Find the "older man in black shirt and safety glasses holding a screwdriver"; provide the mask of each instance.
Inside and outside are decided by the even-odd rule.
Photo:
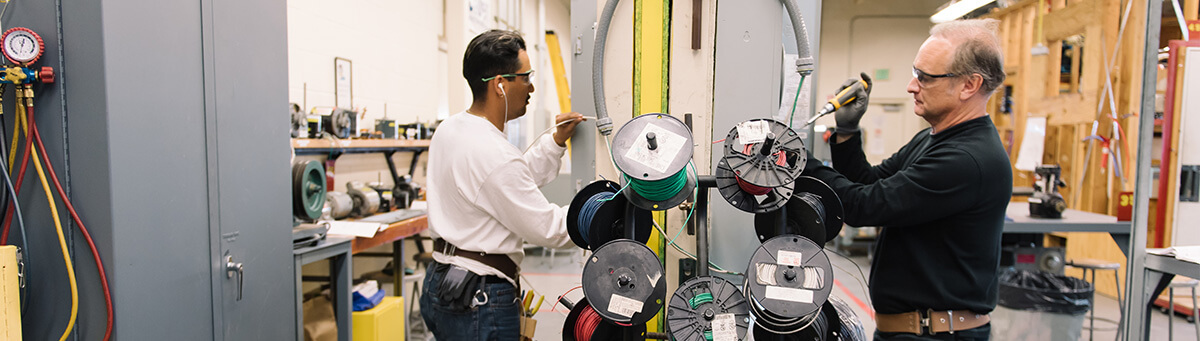
[[[1004,80],[996,24],[958,20],[930,30],[907,88],[930,127],[900,151],[866,162],[858,131],[869,95],[863,90],[835,114],[836,170],[809,162],[804,173],[841,197],[846,223],[882,227],[870,279],[876,340],[989,337],[1013,183],[986,113],[988,97]]]

